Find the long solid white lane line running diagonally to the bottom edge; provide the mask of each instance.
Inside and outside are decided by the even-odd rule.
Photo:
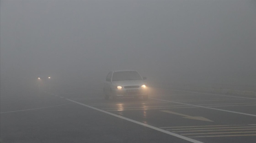
[[[181,139],[184,139],[184,140],[187,140],[187,141],[190,141],[190,142],[193,142],[193,143],[203,143],[201,141],[197,141],[197,140],[194,140],[194,139],[191,139],[191,138],[188,138],[188,137],[185,137],[185,136],[182,136],[182,135],[179,135],[179,134],[175,134],[175,133],[172,133],[170,131],[166,131],[166,130],[163,130],[163,129],[160,129],[158,127],[154,127],[154,126],[151,126],[151,125],[148,125],[148,124],[144,124],[144,123],[141,123],[141,122],[138,122],[136,120],[132,120],[132,119],[129,119],[129,118],[126,118],[126,117],[123,117],[123,116],[120,116],[120,115],[117,115],[117,114],[114,114],[114,113],[110,113],[110,112],[107,112],[105,110],[101,110],[101,109],[98,109],[98,108],[95,108],[93,106],[89,106],[89,105],[86,105],[86,104],[83,104],[83,103],[80,103],[80,102],[77,102],[77,101],[74,101],[74,100],[71,100],[71,99],[67,99],[73,103],[76,103],[76,104],[80,104],[82,106],[86,106],[88,108],[91,108],[91,109],[94,109],[94,110],[97,110],[97,111],[100,111],[100,112],[103,112],[103,113],[106,113],[106,114],[109,114],[109,115],[112,115],[114,117],[118,117],[120,119],[123,119],[123,120],[127,120],[127,121],[130,121],[130,122],[133,122],[135,124],[139,124],[139,125],[142,125],[144,127],[148,127],[148,128],[151,128],[151,129],[154,129],[156,131],[160,131],[160,132],[163,132],[165,134],[169,134],[169,135],[172,135],[172,136],[175,136],[177,138],[181,138]]]

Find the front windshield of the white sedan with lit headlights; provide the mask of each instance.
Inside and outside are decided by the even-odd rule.
[[[136,71],[114,72],[112,81],[120,80],[142,80],[142,78]]]

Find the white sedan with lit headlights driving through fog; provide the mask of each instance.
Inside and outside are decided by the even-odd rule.
[[[122,70],[109,72],[104,83],[103,92],[105,99],[117,97],[142,96],[148,99],[148,88],[145,83],[146,77],[141,77],[135,70]]]

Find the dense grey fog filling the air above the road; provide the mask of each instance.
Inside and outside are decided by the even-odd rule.
[[[59,85],[96,84],[119,69],[155,83],[255,89],[256,1],[1,1],[0,8],[1,92],[33,89],[48,76]]]

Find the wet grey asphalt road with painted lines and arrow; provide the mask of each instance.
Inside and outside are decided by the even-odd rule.
[[[1,92],[1,143],[256,141],[256,97],[150,91],[147,101],[90,87]]]

